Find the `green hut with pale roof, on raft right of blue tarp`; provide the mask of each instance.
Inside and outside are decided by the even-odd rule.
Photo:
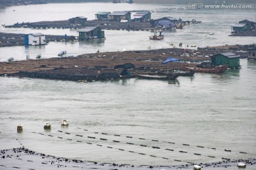
[[[210,57],[211,63],[214,66],[226,65],[228,68],[240,67],[240,55],[233,52],[225,52]]]

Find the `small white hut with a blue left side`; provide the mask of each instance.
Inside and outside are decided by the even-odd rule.
[[[33,33],[25,35],[25,45],[46,45],[46,36],[42,33]]]

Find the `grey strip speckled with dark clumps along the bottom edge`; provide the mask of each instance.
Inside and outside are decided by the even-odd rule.
[[[17,159],[18,157],[18,159]],[[200,163],[203,169],[225,169],[237,168],[238,163],[245,163],[246,169],[255,169],[256,159],[223,159],[220,162]],[[89,162],[78,159],[68,159],[65,157],[55,157],[39,152],[32,151],[26,147],[0,150],[0,166],[4,169],[193,169],[195,164],[180,165],[132,165],[115,164],[104,162]]]

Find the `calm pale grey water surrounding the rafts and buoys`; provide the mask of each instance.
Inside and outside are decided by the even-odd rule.
[[[10,25],[75,16],[94,19],[97,11],[106,11],[106,8],[117,11],[165,7],[111,3],[12,6],[0,10],[0,22]],[[36,58],[38,53],[43,58],[57,57],[60,50],[80,55],[97,50],[146,50],[149,45],[157,49],[170,47],[173,42],[199,47],[255,42],[255,38],[250,37],[228,37],[232,23],[255,20],[252,10],[152,13],[152,18],[164,16],[195,18],[203,23],[164,32],[164,40],[157,42],[149,41],[151,33],[146,31],[105,30],[107,39],[103,43],[50,42],[45,47],[3,47],[1,62],[9,57],[26,60],[26,54],[31,58]],[[78,35],[76,30],[62,29],[1,27],[0,31]],[[202,37],[208,33],[215,35]],[[241,69],[230,69],[225,74],[195,74],[170,82],[124,79],[80,83],[0,77],[0,149],[24,145],[57,157],[137,165],[217,162],[223,157],[255,158],[256,62],[240,60],[240,64]],[[68,128],[60,126],[63,119],[68,119]],[[47,122],[52,125],[50,131],[43,130]],[[19,124],[23,125],[23,133],[16,132]]]

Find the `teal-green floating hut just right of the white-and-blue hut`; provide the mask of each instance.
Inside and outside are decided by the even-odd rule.
[[[87,26],[78,30],[79,40],[94,40],[105,38],[105,32],[99,27]]]

